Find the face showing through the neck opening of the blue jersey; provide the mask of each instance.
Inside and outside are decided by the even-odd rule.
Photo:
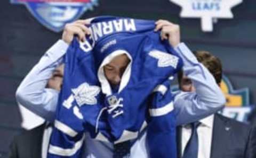
[[[122,75],[129,63],[130,59],[127,55],[121,54],[103,67],[104,74],[111,86],[118,86],[120,84]]]

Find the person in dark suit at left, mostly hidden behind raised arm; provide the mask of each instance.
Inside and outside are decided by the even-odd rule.
[[[63,79],[63,67],[64,65],[61,64],[54,69],[52,76],[46,83],[46,91],[60,91]],[[37,117],[35,119],[38,119]],[[29,122],[33,121],[29,120]],[[36,123],[38,124],[38,120],[36,120]],[[40,120],[39,123],[39,126],[30,130],[24,130],[21,134],[14,136],[10,146],[9,158],[46,157],[52,125],[49,121],[44,121],[41,124]],[[35,124],[33,123],[33,125]]]

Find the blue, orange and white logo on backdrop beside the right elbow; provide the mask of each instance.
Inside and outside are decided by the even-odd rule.
[[[220,87],[227,100],[226,107],[220,113],[238,121],[246,121],[252,111],[249,102],[249,89],[234,90],[226,76],[222,77]]]

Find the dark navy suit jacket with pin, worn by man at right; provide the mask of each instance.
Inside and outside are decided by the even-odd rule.
[[[210,158],[256,158],[256,130],[219,114],[214,115]],[[177,129],[181,157],[181,127]]]

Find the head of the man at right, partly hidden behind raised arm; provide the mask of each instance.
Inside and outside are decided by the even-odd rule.
[[[198,62],[202,63],[209,72],[215,78],[215,81],[218,85],[220,85],[222,79],[222,65],[220,59],[218,57],[213,56],[208,51],[193,51]],[[191,80],[183,74],[182,71],[178,73],[178,82],[179,88],[185,92],[193,92],[195,91],[195,87]]]

